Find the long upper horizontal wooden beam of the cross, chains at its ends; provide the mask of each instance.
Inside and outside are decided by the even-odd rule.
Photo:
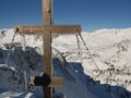
[[[60,33],[60,34],[66,34],[66,33],[72,33],[72,34],[79,34],[81,33],[81,26],[80,25],[51,25],[51,26],[36,26],[36,25],[31,25],[31,26],[15,26],[14,27],[15,33],[23,33],[23,34],[33,34],[33,33]]]

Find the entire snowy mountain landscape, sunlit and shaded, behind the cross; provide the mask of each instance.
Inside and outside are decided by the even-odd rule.
[[[0,98],[43,98],[41,88],[31,87],[29,76],[43,72],[41,37],[0,30]],[[55,36],[53,75],[66,83],[55,88],[53,98],[131,98],[131,28]],[[79,50],[81,52],[79,52]],[[37,58],[36,58],[37,57]],[[95,81],[94,81],[95,79]],[[27,81],[27,82],[26,82]]]

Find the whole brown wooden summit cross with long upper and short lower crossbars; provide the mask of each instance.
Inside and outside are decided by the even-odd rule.
[[[52,0],[43,0],[43,16],[44,25],[43,26],[15,26],[15,33],[43,33],[43,46],[44,46],[44,73],[50,76],[51,83],[44,88],[44,98],[52,98],[51,87],[63,85],[63,79],[60,77],[52,77],[52,66],[51,66],[51,34],[80,34],[80,25],[52,25],[51,21],[51,1]],[[33,77],[35,78],[35,77]]]

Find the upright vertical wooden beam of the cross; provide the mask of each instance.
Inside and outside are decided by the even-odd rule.
[[[43,0],[43,16],[45,25],[51,26],[51,0]],[[44,73],[51,77],[51,33],[43,33]],[[51,87],[43,87],[44,98],[51,98]]]

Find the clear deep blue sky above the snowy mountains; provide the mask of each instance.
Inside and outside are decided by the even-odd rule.
[[[131,27],[131,0],[53,0],[53,24],[83,30]],[[0,28],[43,25],[41,0],[0,0]]]

